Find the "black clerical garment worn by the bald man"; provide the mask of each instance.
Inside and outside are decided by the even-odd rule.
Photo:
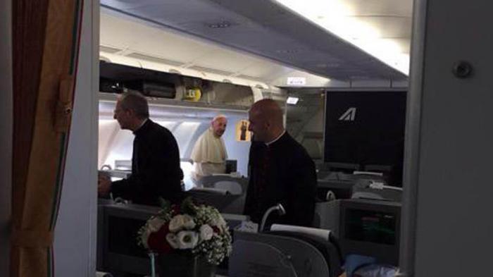
[[[311,226],[317,178],[315,164],[301,144],[288,133],[269,146],[252,142],[249,170],[244,214],[260,223],[269,207],[281,203],[286,215],[272,214],[268,223]]]

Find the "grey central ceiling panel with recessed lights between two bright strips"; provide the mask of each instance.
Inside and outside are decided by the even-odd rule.
[[[366,78],[371,79],[406,79],[404,74],[287,8],[275,4],[274,1],[101,0],[101,4],[146,20],[150,25],[160,25],[201,39],[210,39],[227,47],[263,56],[328,78],[351,80],[355,75],[365,75]],[[376,11],[377,7],[374,10]],[[229,26],[211,27],[223,23]],[[146,51],[153,49],[158,51],[159,45],[163,42],[165,41],[156,43],[152,49]],[[166,52],[168,51],[161,47],[158,56],[168,58]],[[195,57],[198,59],[196,65],[214,66],[208,59],[209,55],[206,54],[207,61]],[[201,55],[196,54],[196,56]],[[368,59],[373,62],[361,63]],[[216,66],[217,63],[216,61]],[[330,64],[337,66],[327,66]],[[232,72],[241,70],[238,66],[219,68],[223,66],[225,64],[217,66],[216,69]],[[248,67],[248,65],[244,66],[244,68]],[[344,70],[341,70],[342,68]]]

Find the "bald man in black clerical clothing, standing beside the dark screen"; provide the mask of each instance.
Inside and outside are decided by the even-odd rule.
[[[282,110],[272,99],[257,101],[249,111],[249,187],[244,214],[260,223],[269,207],[281,203],[285,216],[268,221],[311,226],[316,199],[316,171],[304,147],[282,124]]]

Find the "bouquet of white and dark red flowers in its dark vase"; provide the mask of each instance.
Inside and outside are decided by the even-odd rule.
[[[231,235],[219,211],[195,204],[161,204],[162,209],[139,230],[138,242],[158,254],[162,276],[213,276],[216,265],[228,257]]]

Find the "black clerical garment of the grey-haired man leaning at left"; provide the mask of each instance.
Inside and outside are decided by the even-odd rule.
[[[180,150],[170,130],[150,119],[134,133],[132,174],[111,185],[113,197],[158,205],[158,197],[180,201],[183,178]]]

